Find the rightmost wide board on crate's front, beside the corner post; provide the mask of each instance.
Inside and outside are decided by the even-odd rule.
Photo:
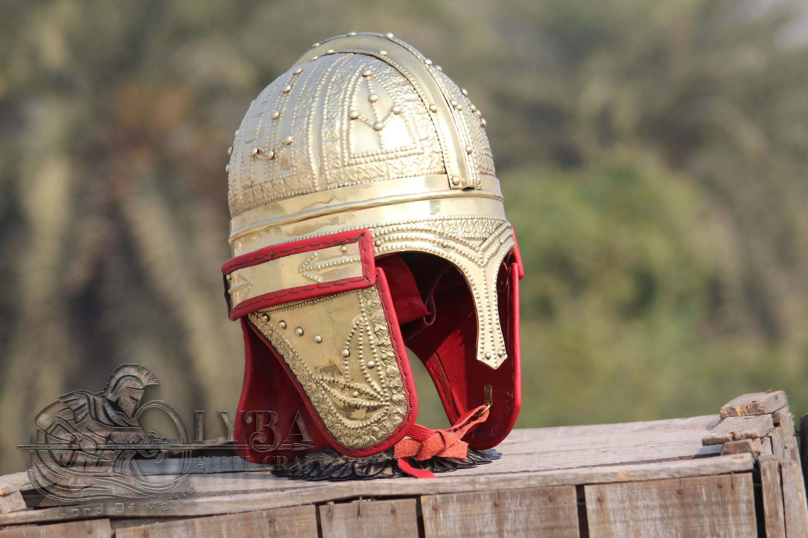
[[[751,473],[585,486],[589,536],[755,538]]]

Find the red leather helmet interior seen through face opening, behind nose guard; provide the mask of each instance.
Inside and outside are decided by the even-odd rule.
[[[398,260],[393,261],[393,256]],[[449,421],[454,423],[482,405],[486,385],[491,385],[493,406],[489,419],[473,428],[465,440],[473,448],[499,444],[511,431],[520,409],[519,288],[514,255],[505,257],[495,284],[508,356],[498,369],[490,369],[477,359],[477,310],[461,270],[440,256],[424,252],[402,252],[377,260],[385,270],[393,264],[393,278],[406,277],[410,300],[417,290],[423,311],[427,312],[401,324],[404,343],[427,368]],[[404,286],[398,287],[401,297]],[[393,302],[398,313],[395,292]]]

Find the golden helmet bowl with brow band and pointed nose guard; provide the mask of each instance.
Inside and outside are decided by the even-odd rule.
[[[468,92],[394,36],[351,32],[315,44],[263,90],[236,131],[234,256],[360,228],[371,231],[376,256],[441,256],[465,274],[478,360],[497,368],[507,354],[496,278],[514,243],[484,127]],[[300,282],[298,267],[278,269],[261,289]],[[294,273],[288,281],[285,271]],[[242,277],[255,280],[232,276],[238,299],[259,294]],[[313,330],[325,345],[325,329]],[[312,352],[301,361],[319,361],[322,347]]]

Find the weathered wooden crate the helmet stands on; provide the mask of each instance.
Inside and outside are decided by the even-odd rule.
[[[808,536],[785,394],[747,394],[722,415],[516,430],[499,450],[434,480],[190,475],[187,498],[80,507],[24,507],[35,497],[17,473],[0,478],[0,538]]]

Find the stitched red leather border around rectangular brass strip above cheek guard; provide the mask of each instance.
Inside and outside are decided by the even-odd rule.
[[[335,247],[340,244],[359,243],[360,257],[362,258],[362,276],[343,278],[334,282],[322,282],[309,284],[307,286],[297,286],[288,290],[273,291],[258,297],[249,298],[238,303],[235,308],[230,307],[230,295],[227,293],[228,282],[225,278],[227,273],[236,269],[259,265],[265,261],[276,260],[284,256],[290,256],[299,252],[309,252],[319,248]],[[288,243],[273,244],[255,252],[247,252],[241,256],[236,256],[232,260],[221,266],[222,282],[225,285],[225,300],[229,310],[228,317],[232,321],[255,312],[262,308],[275,307],[284,302],[306,301],[322,297],[323,295],[338,294],[343,291],[358,290],[368,288],[376,284],[376,262],[373,258],[373,243],[370,231],[351,230],[340,231],[328,236],[309,237],[290,241]]]

